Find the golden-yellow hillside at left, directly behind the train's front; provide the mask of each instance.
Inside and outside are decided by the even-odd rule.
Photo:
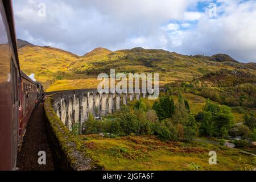
[[[79,56],[52,47],[32,44],[19,44],[19,61],[22,71],[27,75],[35,73],[36,80],[46,82],[65,75],[70,65]]]

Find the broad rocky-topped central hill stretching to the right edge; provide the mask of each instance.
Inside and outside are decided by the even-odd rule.
[[[97,49],[81,57],[69,71],[97,76],[110,69],[126,73],[159,73],[162,81],[192,80],[218,69],[249,69],[228,55],[184,56],[158,49],[133,48],[110,52]],[[255,70],[250,69],[251,72]]]

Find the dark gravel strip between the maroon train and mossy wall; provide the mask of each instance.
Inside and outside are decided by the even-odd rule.
[[[51,171],[54,170],[51,151],[48,146],[44,127],[43,104],[33,111],[27,125],[23,146],[18,154],[17,167],[22,171]],[[38,152],[46,152],[46,165],[38,164]]]

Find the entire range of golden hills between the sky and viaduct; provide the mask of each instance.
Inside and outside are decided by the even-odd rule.
[[[238,63],[224,54],[185,56],[163,49],[133,48],[110,51],[96,48],[84,56],[52,47],[19,41],[22,70],[43,82],[48,91],[97,88],[97,76],[110,69],[123,73],[159,73],[160,85],[172,81],[192,81],[221,69],[240,70],[256,75],[254,63]],[[74,84],[76,83],[76,84]]]

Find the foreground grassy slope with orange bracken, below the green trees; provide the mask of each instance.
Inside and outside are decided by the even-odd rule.
[[[106,170],[250,170],[253,156],[237,149],[206,143],[161,142],[152,136],[103,138],[82,136]],[[210,165],[209,151],[217,152],[217,165]]]

